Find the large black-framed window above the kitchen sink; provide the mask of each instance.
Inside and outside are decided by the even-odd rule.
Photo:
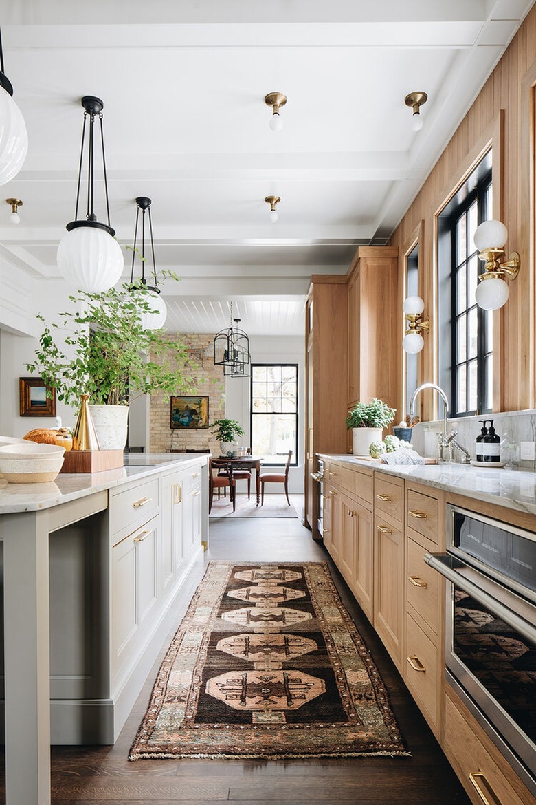
[[[453,417],[493,407],[493,319],[475,300],[484,264],[473,241],[492,208],[489,151],[439,217],[440,385]]]

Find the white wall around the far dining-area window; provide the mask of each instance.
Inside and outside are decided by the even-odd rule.
[[[288,474],[288,489],[294,494],[304,491],[305,456],[305,336],[250,336],[249,350],[253,363],[297,363],[298,365],[298,465]],[[227,378],[225,415],[236,419],[245,436],[239,444],[250,444],[250,378]],[[267,485],[266,491],[281,493],[283,486]]]

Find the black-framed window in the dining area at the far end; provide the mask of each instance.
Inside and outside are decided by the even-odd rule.
[[[298,366],[252,364],[252,454],[265,464],[285,464],[293,451],[297,466]]]

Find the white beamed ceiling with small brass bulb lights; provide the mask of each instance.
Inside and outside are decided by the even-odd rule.
[[[386,242],[532,5],[0,0],[30,140],[3,188],[24,204],[17,227],[0,208],[0,258],[59,276],[80,97],[96,95],[117,237],[132,244],[134,199],[150,196],[158,267],[182,278],[164,288],[166,326],[215,332],[232,301],[248,333],[301,334],[310,276],[345,273],[359,244]],[[419,132],[404,104],[415,90],[428,93]],[[288,97],[279,132],[271,91]]]

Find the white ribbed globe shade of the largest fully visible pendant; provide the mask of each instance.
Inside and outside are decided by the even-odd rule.
[[[105,229],[92,226],[77,226],[63,235],[57,260],[68,283],[91,294],[113,287],[125,266],[117,241]]]

